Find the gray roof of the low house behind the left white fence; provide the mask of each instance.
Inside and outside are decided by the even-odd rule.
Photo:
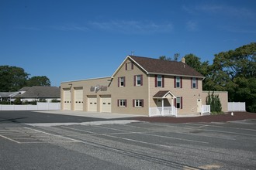
[[[23,88],[21,90],[24,90]],[[19,91],[21,91],[19,90]],[[25,90],[24,90],[25,91]],[[61,90],[59,87],[29,87],[25,93],[16,97],[22,98],[61,98]]]

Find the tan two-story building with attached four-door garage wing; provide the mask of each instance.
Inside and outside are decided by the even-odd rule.
[[[149,115],[154,108],[201,112],[204,76],[182,62],[126,56],[109,77],[61,83],[61,109]],[[227,111],[227,92],[220,95]],[[171,107],[175,106],[175,107]]]

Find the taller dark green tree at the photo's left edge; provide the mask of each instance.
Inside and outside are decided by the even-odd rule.
[[[0,66],[0,91],[17,91],[26,85],[29,74],[16,66]]]

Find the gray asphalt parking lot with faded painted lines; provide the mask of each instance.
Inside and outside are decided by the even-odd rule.
[[[46,122],[38,120],[47,114],[12,114],[0,112],[0,169],[256,167],[254,120],[163,124],[48,115],[54,118]]]

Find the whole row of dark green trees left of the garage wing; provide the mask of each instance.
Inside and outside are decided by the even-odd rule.
[[[0,66],[0,92],[13,92],[22,87],[50,86],[47,76],[32,76],[17,66]]]

